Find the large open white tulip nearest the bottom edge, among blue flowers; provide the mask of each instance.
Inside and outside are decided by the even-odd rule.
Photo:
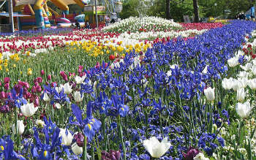
[[[159,158],[168,151],[170,142],[167,142],[167,137],[162,142],[159,142],[156,137],[151,137],[149,140],[143,141],[143,146],[153,158]]]

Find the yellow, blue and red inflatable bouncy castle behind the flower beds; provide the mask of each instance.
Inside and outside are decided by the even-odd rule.
[[[71,24],[74,23],[75,14],[69,14],[69,7],[67,5],[78,4],[83,8],[85,4],[82,0],[50,0],[56,7],[62,10],[62,15],[59,15],[48,7],[47,1],[48,0],[15,0],[14,12],[30,15],[29,17],[20,18],[19,28],[45,28],[54,25],[60,27],[71,26]]]

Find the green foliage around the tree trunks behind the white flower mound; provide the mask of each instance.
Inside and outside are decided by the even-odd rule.
[[[165,18],[166,1],[153,0],[154,5],[148,9],[147,15]],[[129,18],[138,15],[135,7],[138,7],[138,0],[124,1],[121,18]],[[239,12],[246,12],[252,7],[251,0],[198,0],[200,18],[210,16],[218,18],[235,18]],[[225,10],[230,10],[230,14],[225,14]],[[178,22],[183,22],[183,15],[194,16],[192,0],[170,0],[170,18]]]

